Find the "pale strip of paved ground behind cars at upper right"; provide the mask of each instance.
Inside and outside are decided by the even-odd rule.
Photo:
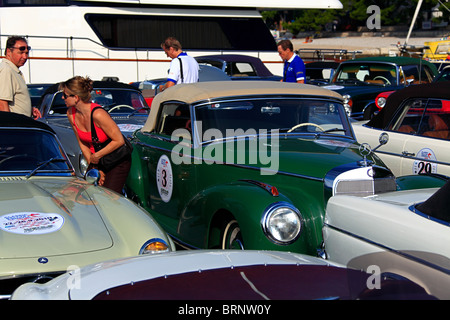
[[[425,41],[436,41],[440,38],[410,37],[408,45],[423,46]],[[389,51],[397,50],[397,43],[404,44],[406,38],[396,37],[335,37],[318,38],[305,43],[305,39],[293,39],[294,49],[345,49],[348,51],[362,51],[363,54],[387,55]]]

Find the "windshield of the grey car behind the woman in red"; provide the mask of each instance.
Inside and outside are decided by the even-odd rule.
[[[150,108],[140,92],[128,89],[94,89],[91,92],[91,101],[101,105],[111,114],[144,114],[147,115]],[[62,92],[58,92],[52,102],[49,115],[66,116],[67,107],[62,98]]]

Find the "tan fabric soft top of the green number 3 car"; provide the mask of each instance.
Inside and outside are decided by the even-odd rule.
[[[142,131],[153,131],[159,107],[166,101],[180,101],[191,104],[220,97],[278,94],[313,95],[342,99],[340,94],[318,86],[277,81],[210,81],[178,84],[155,96],[150,115]]]

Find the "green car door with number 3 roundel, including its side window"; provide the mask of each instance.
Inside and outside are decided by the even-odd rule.
[[[147,179],[151,180],[150,206],[162,226],[175,235],[178,221],[197,189],[195,166],[189,157],[190,113],[187,105],[177,103],[166,103],[161,108],[152,142],[143,156],[150,173]]]

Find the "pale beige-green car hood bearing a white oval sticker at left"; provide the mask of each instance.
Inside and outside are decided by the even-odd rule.
[[[109,248],[112,238],[81,180],[1,182],[0,259]]]

